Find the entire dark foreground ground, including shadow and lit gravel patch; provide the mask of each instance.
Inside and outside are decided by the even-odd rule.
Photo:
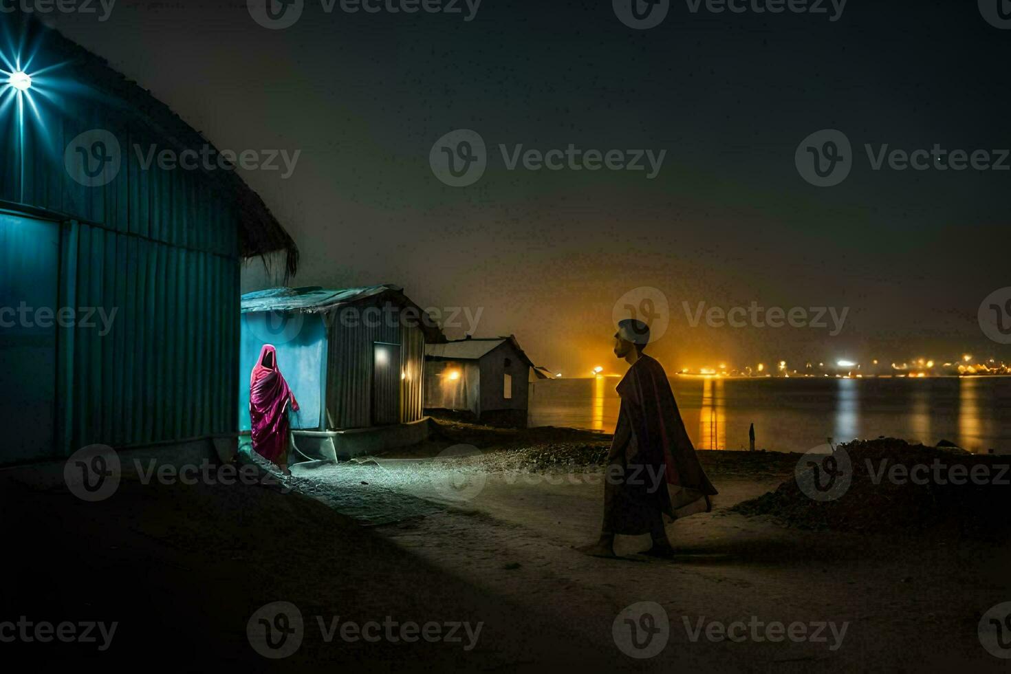
[[[143,484],[127,470],[112,497],[86,503],[60,466],[49,478],[0,471],[0,623],[118,623],[104,652],[99,637],[0,642],[0,655],[159,671],[1006,671],[977,631],[1011,600],[1007,545],[946,529],[800,529],[732,509],[792,479],[797,455],[700,453],[721,494],[714,512],[669,527],[674,560],[636,555],[646,542],[633,538],[619,540],[620,560],[577,553],[599,526],[607,440],[443,422],[436,442],[378,463],[296,470],[291,484],[310,496]],[[460,445],[479,452],[448,471],[432,461]],[[278,601],[297,606],[302,641],[271,660],[247,628]],[[622,619],[639,602],[669,622],[664,648],[645,659],[626,655]],[[335,618],[482,627],[469,650],[462,628],[458,642],[328,642]],[[826,627],[825,642],[693,637],[700,624],[749,621],[846,632],[833,639]]]

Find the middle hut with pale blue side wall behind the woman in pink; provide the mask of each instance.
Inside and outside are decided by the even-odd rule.
[[[249,373],[263,345],[271,344],[300,407],[292,429],[301,454],[336,460],[421,442],[429,432],[422,405],[425,345],[443,339],[396,286],[247,293],[240,427],[251,425]]]

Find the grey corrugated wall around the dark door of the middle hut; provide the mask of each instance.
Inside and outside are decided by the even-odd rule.
[[[364,428],[372,425],[373,354],[377,342],[400,345],[400,365],[404,372],[399,388],[388,395],[400,398],[400,420],[422,418],[425,336],[421,328],[391,324],[385,318],[370,319],[370,307],[389,315],[392,305],[361,302],[328,314],[330,326],[327,411],[333,428]],[[417,373],[417,374],[416,374]]]

